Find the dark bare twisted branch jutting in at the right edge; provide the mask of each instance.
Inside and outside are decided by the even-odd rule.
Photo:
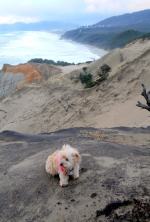
[[[138,101],[136,106],[138,106],[142,109],[146,109],[150,112],[150,91],[148,91],[148,92],[146,91],[144,84],[142,84],[142,88],[143,88],[143,91],[142,91],[141,95],[145,98],[147,105]]]

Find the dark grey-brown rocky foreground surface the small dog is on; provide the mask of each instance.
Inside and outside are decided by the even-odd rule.
[[[150,128],[0,133],[1,222],[149,222]],[[78,147],[80,178],[61,188],[44,170],[62,144]]]

